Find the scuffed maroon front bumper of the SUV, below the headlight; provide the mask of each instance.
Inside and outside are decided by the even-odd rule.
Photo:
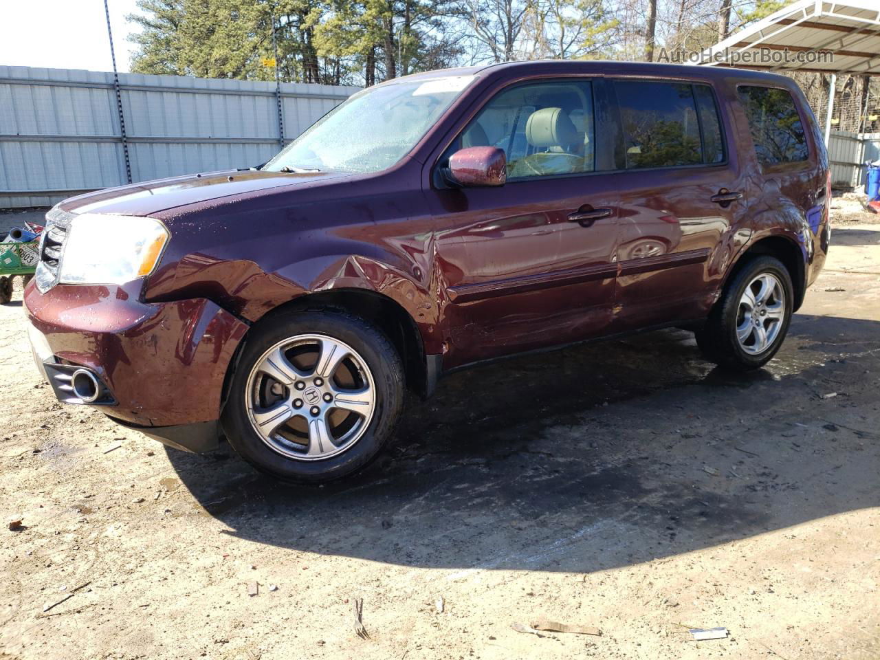
[[[44,377],[59,371],[53,363],[92,370],[108,394],[101,412],[180,449],[209,449],[247,325],[205,298],[143,303],[140,292],[141,282],[131,282],[59,284],[41,294],[30,283],[25,309],[38,333],[31,331],[38,366],[48,362]]]

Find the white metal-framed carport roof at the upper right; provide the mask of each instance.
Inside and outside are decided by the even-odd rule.
[[[702,63],[880,74],[880,0],[796,0],[708,48]]]

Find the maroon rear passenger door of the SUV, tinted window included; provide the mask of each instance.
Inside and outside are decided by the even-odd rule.
[[[624,141],[614,329],[700,318],[747,238],[729,118],[708,83],[621,78],[612,89]]]

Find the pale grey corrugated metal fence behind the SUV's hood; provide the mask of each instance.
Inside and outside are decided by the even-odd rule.
[[[258,165],[280,149],[275,83],[119,75],[133,181]],[[357,87],[282,83],[284,143]],[[0,66],[0,209],[127,182],[112,73]]]

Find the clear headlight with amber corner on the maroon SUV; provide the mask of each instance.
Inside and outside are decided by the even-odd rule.
[[[84,213],[70,222],[58,281],[124,284],[153,272],[170,234],[151,217]]]

